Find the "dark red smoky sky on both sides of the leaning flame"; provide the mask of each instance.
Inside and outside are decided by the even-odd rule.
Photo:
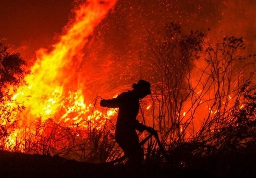
[[[72,0],[2,0],[0,38],[33,65],[35,59],[30,58],[35,51],[40,47],[51,49],[65,33],[64,27],[72,20],[75,5]],[[119,0],[95,28],[83,51],[85,59],[74,61],[77,68],[74,70],[83,71],[81,76],[84,71],[93,76],[88,83],[97,78],[102,80],[102,73],[106,74],[106,80],[113,79],[108,81],[113,86],[119,81],[136,81],[140,58],[145,63],[150,56],[147,32],[157,33],[170,22],[180,24],[186,32],[211,28],[212,37],[243,36],[248,49],[255,52],[254,0]],[[88,74],[90,71],[93,72]]]

